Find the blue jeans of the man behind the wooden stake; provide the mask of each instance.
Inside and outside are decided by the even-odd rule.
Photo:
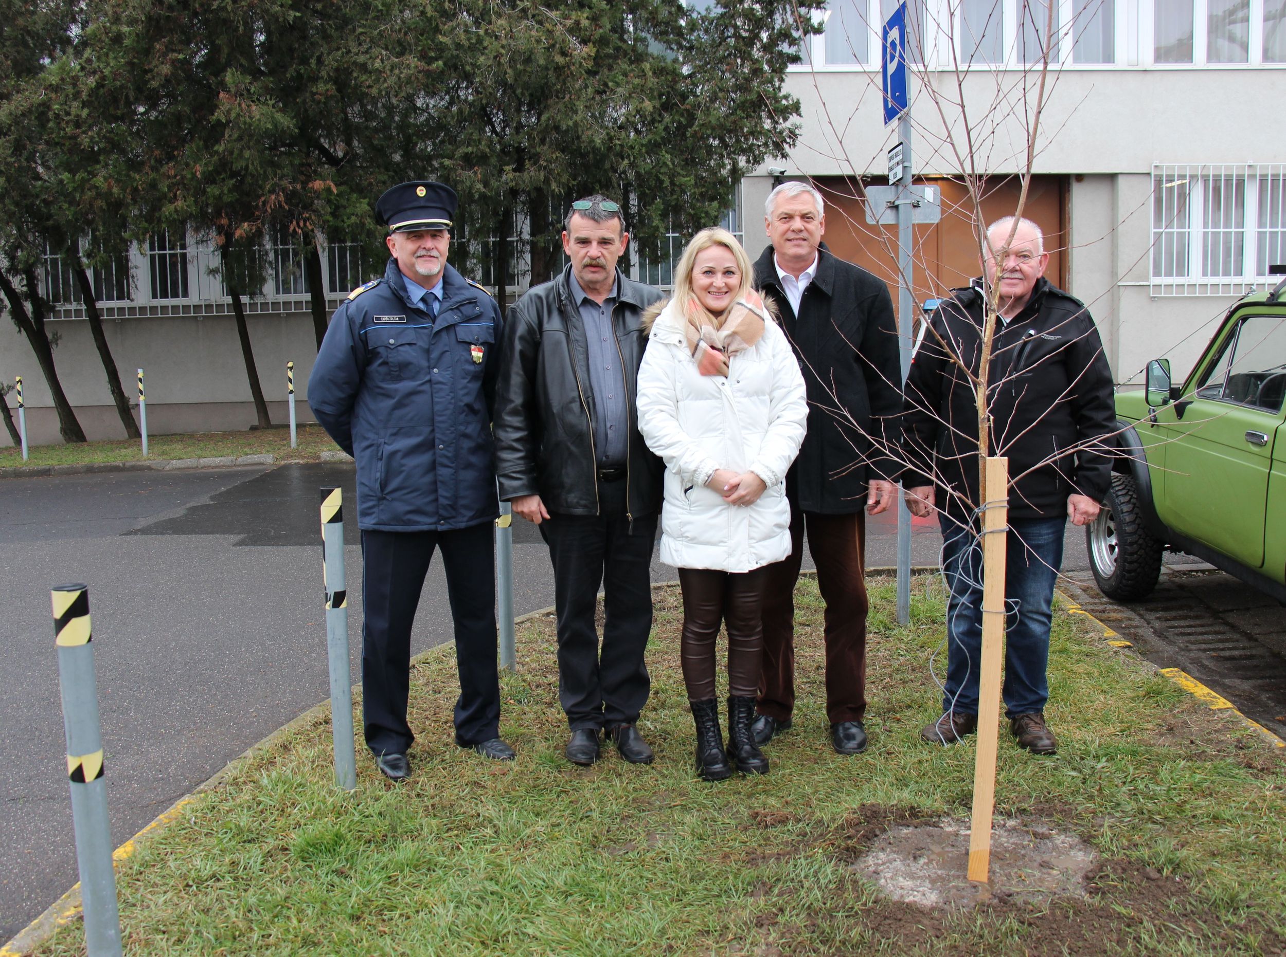
[[[939,515],[946,601],[946,686],[943,710],[977,714],[983,654],[983,545],[976,529]],[[1017,519],[1006,536],[1004,713],[1044,710],[1053,586],[1066,519]]]

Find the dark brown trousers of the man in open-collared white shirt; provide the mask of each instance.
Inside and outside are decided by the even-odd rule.
[[[826,601],[826,714],[832,724],[867,713],[867,514],[819,515],[791,502],[791,554],[769,565],[764,583],[764,676],[759,713],[778,721],[795,709],[795,583],[804,525]]]

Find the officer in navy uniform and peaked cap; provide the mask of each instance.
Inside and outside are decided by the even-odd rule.
[[[309,378],[309,405],[358,464],[361,685],[367,745],[410,775],[410,629],[435,549],[455,626],[455,742],[512,760],[500,740],[491,408],[500,310],[446,263],[458,199],[404,182],[376,204],[392,258],[334,313]]]

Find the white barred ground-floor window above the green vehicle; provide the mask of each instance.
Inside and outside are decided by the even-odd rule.
[[[1148,247],[1148,277],[1152,295],[1242,295],[1256,288],[1265,286],[1276,281],[1268,276],[1268,266],[1274,263],[1258,263],[1258,233],[1259,233],[1259,180],[1262,177],[1286,179],[1286,163],[1156,163],[1152,166],[1152,202],[1148,204],[1151,217],[1151,244]],[[1166,230],[1174,231],[1172,224],[1157,222],[1156,189],[1157,184],[1186,179],[1190,184],[1187,197],[1187,275],[1159,276],[1155,272],[1155,262],[1151,250],[1156,248],[1160,236]],[[1242,193],[1242,225],[1241,225],[1241,270],[1231,276],[1204,275],[1204,240],[1205,227],[1202,224],[1205,213],[1205,184],[1215,177],[1241,179],[1244,181]],[[1263,202],[1268,202],[1267,198]],[[1286,230],[1286,222],[1280,227]]]

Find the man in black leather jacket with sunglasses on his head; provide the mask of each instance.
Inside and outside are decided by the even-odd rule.
[[[643,311],[661,293],[616,268],[629,234],[606,197],[572,203],[562,240],[571,265],[518,299],[504,326],[494,416],[500,498],[549,546],[567,759],[593,764],[606,731],[625,760],[646,764],[652,750],[635,724],[651,690],[643,651],[662,465],[639,435],[634,397]]]

